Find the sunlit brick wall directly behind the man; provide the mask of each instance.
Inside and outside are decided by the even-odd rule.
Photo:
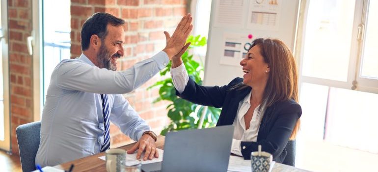
[[[71,0],[71,57],[81,54],[80,29],[83,22],[95,12],[108,12],[126,21],[125,56],[118,60],[117,66],[119,70],[125,70],[164,48],[163,31],[173,33],[186,13],[186,3],[186,0]],[[125,94],[157,134],[167,123],[167,103],[153,104],[159,96],[159,89],[147,90],[147,87],[160,79],[157,75],[135,91]],[[112,147],[132,142],[114,125],[110,126],[110,136]]]

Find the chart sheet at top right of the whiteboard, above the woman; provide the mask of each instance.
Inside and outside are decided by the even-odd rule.
[[[250,0],[247,29],[277,31],[282,0]]]

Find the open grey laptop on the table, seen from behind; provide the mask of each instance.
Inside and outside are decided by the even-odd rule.
[[[227,172],[234,126],[169,132],[163,161],[143,164],[144,172]]]

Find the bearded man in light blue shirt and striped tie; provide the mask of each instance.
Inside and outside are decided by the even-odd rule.
[[[145,152],[144,160],[159,157],[156,135],[121,94],[141,86],[188,48],[191,20],[185,15],[172,37],[164,32],[162,52],[116,71],[124,55],[125,21],[103,12],[88,18],[81,29],[81,56],[62,60],[52,73],[35,163],[55,166],[107,150],[110,120],[137,141],[128,153],[138,150],[139,159]]]

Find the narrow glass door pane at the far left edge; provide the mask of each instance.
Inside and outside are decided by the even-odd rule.
[[[0,149],[10,150],[7,0],[0,4]]]

